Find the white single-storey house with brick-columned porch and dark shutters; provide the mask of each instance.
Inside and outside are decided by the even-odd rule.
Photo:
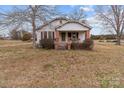
[[[91,27],[86,23],[56,18],[36,30],[36,43],[40,44],[40,40],[44,38],[53,39],[55,48],[65,46],[70,41],[82,43],[90,38],[90,30]]]

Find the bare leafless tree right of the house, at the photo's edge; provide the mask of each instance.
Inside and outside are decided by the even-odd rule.
[[[124,6],[97,6],[97,18],[102,21],[103,26],[109,32],[115,32],[117,45],[120,45],[121,36],[124,31]]]

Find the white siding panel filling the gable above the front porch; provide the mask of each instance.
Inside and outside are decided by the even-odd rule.
[[[67,23],[64,26],[58,28],[57,30],[59,31],[86,31],[89,29],[78,23]]]

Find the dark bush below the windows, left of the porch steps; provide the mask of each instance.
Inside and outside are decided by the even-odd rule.
[[[54,49],[54,40],[53,39],[42,39],[40,45],[45,49]]]

